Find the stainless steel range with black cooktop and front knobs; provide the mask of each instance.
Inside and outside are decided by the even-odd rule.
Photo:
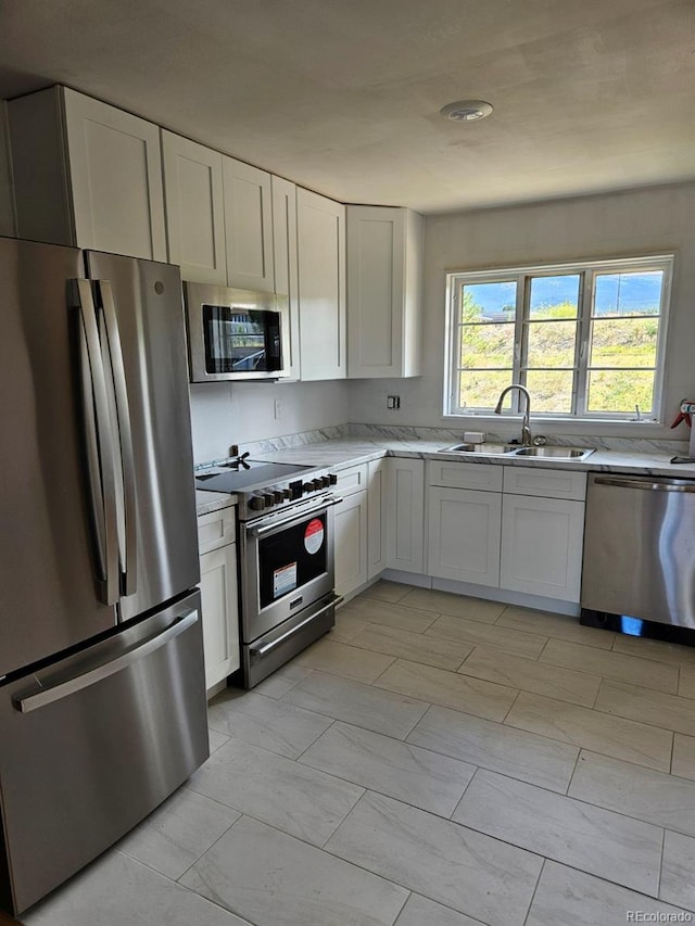
[[[245,688],[336,622],[333,507],[327,469],[237,457],[199,468],[198,489],[238,496],[241,677]]]

